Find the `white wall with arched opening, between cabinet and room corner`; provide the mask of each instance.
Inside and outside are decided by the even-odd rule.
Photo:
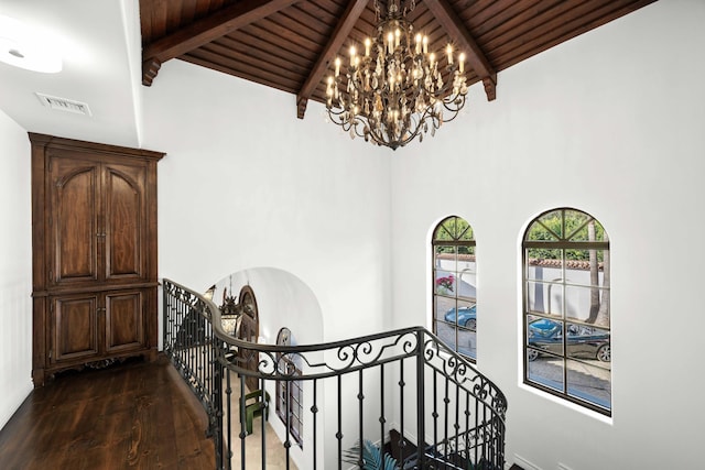
[[[350,143],[317,103],[297,120],[294,96],[180,61],[143,103],[144,147],[167,153],[160,276],[205,291],[281,269],[318,299],[324,340],[389,329],[389,152]]]

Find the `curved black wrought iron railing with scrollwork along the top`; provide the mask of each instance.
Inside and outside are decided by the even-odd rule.
[[[503,469],[505,395],[425,328],[311,346],[252,343],[228,335],[219,308],[198,293],[169,280],[163,293],[164,352],[208,415],[217,469],[246,469],[251,461],[243,409],[246,379],[252,376],[262,397],[276,382],[307,384],[307,468],[365,468],[369,456],[362,442],[375,442],[384,461],[391,451],[383,444],[399,426],[391,447],[401,448],[393,455],[400,469]],[[248,369],[252,363],[256,370]],[[293,374],[283,363],[300,370]],[[272,439],[264,419],[259,426],[257,466],[265,469]],[[295,468],[290,455],[295,444],[289,426],[284,429],[284,466]]]

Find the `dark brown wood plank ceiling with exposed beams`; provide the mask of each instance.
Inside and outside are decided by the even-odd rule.
[[[655,0],[402,0],[406,19],[442,55],[468,56],[468,85],[496,97],[497,73]],[[142,84],[178,58],[325,102],[325,77],[375,33],[376,0],[140,0]],[[382,9],[384,0],[379,3]]]

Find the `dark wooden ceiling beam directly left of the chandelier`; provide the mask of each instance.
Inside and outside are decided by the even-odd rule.
[[[333,31],[333,35],[330,36],[328,44],[324,47],[323,52],[318,56],[318,61],[311,69],[308,78],[306,78],[306,81],[304,81],[304,85],[296,95],[296,116],[299,119],[304,119],[308,98],[311,98],[311,95],[323,79],[326,68],[328,68],[328,64],[343,46],[343,43],[350,34],[350,31],[352,31],[355,23],[357,23],[357,20],[367,8],[368,2],[369,0],[355,0],[348,3],[348,8],[345,10],[343,18],[338,21],[338,24]]]

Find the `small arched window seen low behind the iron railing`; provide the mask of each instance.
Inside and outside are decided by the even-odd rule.
[[[289,328],[284,327],[276,335],[278,346],[295,346]],[[299,357],[279,354],[276,358],[279,372],[286,376],[301,375]],[[276,416],[280,417],[299,447],[303,448],[303,384],[301,381],[276,381]]]

